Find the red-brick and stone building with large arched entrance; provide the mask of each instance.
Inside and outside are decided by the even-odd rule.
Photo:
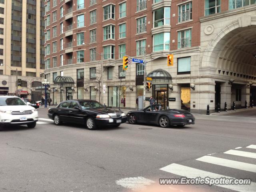
[[[149,61],[146,73],[154,78],[146,98],[153,96],[164,108],[204,113],[207,105],[214,112],[218,103],[224,108],[226,102],[229,109],[233,101],[244,106],[255,97],[254,86],[248,86],[256,80],[254,3],[48,0],[44,61],[50,96],[56,104],[76,98],[100,101],[103,94],[100,102],[107,106],[136,108],[137,97],[143,96],[144,66],[132,62],[123,70],[127,55]],[[174,55],[173,66],[167,65],[168,53]]]

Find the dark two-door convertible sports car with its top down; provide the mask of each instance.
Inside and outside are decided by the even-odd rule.
[[[161,127],[177,125],[183,127],[188,124],[195,124],[194,116],[185,110],[162,109],[160,104],[144,108],[144,110],[130,111],[127,114],[130,124],[148,123],[158,124]]]

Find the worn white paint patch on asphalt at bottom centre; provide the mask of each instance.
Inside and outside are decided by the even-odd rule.
[[[144,178],[144,177],[129,177],[123,178],[116,181],[117,185],[120,185],[124,188],[135,190],[142,190],[146,186],[155,183],[154,181]]]

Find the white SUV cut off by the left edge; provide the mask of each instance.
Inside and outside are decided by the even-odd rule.
[[[0,96],[0,126],[27,125],[34,128],[38,120],[37,110],[16,96]]]

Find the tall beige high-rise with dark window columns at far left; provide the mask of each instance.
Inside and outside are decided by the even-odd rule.
[[[41,98],[43,19],[42,0],[0,0],[0,94]]]

